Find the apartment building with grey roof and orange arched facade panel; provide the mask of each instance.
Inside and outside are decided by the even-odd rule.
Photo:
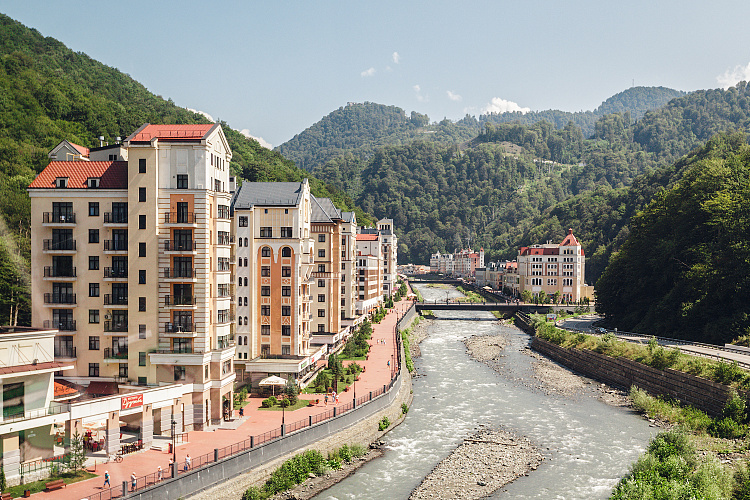
[[[234,195],[236,363],[252,383],[269,373],[303,379],[321,355],[310,346],[311,317],[319,308],[311,286],[331,271],[324,263],[326,270],[316,267],[312,203],[307,179],[245,182]],[[339,251],[338,242],[326,240],[320,250],[330,255],[335,243]]]

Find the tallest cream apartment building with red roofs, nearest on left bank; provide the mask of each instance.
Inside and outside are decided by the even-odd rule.
[[[221,126],[146,124],[121,144],[63,141],[50,155],[28,189],[32,324],[60,330],[66,378],[187,384],[179,430],[218,421],[235,378]]]

